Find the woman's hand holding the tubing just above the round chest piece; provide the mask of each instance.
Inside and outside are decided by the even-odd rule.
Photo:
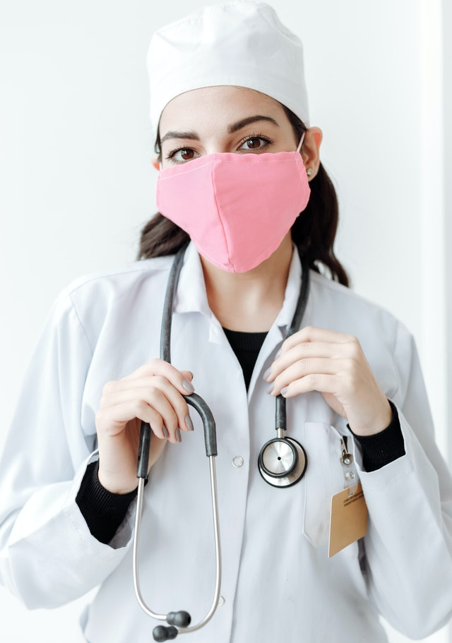
[[[391,423],[388,400],[352,335],[307,326],[285,340],[269,371],[270,395],[319,391],[356,435],[374,435]]]

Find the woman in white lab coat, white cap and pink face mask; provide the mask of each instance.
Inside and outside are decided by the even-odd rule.
[[[234,3],[157,32],[149,62],[165,217],[143,231],[147,260],[73,284],[54,308],[0,469],[2,580],[30,607],[101,585],[85,639],[150,639],[131,584],[144,421],[143,596],[200,620],[215,565],[203,431],[185,397],[196,389],[218,428],[224,574],[218,611],[191,639],[378,643],[379,613],[427,635],[452,609],[452,482],[412,338],[345,287],[333,255],[337,212],[301,45],[268,6]],[[189,237],[169,364],[157,358],[163,299]],[[311,286],[287,337],[307,273],[299,253]],[[284,488],[257,464],[278,395],[307,454]],[[29,443],[19,455],[18,432]],[[357,477],[367,534],[328,558],[331,496],[350,481],[357,493]]]

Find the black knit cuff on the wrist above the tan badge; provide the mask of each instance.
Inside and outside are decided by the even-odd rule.
[[[393,419],[391,424],[383,431],[374,435],[356,435],[350,429],[359,445],[361,445],[364,471],[376,471],[376,469],[384,467],[385,464],[389,464],[389,462],[393,462],[393,460],[405,455],[405,445],[398,412],[394,404],[390,400],[388,402],[391,404]]]

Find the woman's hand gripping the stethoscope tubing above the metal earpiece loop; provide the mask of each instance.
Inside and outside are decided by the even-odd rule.
[[[136,462],[141,421],[153,431],[149,469],[167,442],[181,441],[180,431],[193,424],[184,395],[194,392],[190,371],[153,359],[121,380],[105,385],[96,414],[99,481],[112,493],[129,493],[138,486]]]

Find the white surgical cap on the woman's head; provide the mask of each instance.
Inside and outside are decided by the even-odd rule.
[[[155,133],[170,100],[213,85],[267,94],[309,124],[302,43],[263,2],[206,6],[159,29],[150,42],[148,71]]]

